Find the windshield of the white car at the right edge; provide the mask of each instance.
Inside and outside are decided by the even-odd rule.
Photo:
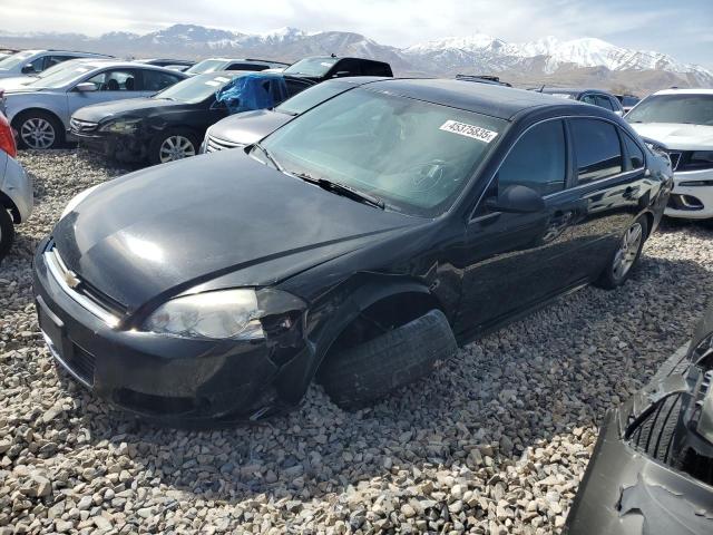
[[[632,109],[626,120],[713,126],[713,95],[653,95]]]

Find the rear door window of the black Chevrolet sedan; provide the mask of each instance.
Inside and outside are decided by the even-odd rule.
[[[614,125],[597,119],[572,119],[570,125],[579,184],[622,173],[622,147]]]

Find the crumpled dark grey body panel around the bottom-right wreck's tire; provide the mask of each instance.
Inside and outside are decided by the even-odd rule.
[[[628,440],[637,422],[660,401],[692,395],[692,382],[686,379],[671,374],[655,380],[621,408],[607,412],[564,533],[713,533],[713,487],[649,457]]]

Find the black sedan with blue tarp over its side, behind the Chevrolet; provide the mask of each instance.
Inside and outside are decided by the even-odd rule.
[[[236,78],[258,78],[264,106],[280,104],[312,82],[275,72],[224,71],[183,80],[153,97],[97,104],[71,116],[80,145],[120,162],[160,164],[195,156],[205,130],[229,114],[216,99]],[[255,106],[243,106],[255,109]]]

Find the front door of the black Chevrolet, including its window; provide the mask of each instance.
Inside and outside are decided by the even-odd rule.
[[[471,333],[555,295],[574,278],[568,262],[578,210],[569,176],[564,123],[531,127],[506,156],[466,228],[458,333]],[[489,208],[506,187],[528,186],[545,200],[535,213]]]

